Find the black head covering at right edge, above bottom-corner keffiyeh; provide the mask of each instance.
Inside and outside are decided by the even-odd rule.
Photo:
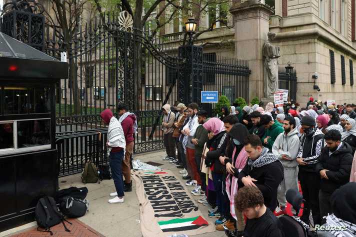
[[[356,182],[348,182],[336,189],[331,197],[331,210],[336,217],[356,224]]]

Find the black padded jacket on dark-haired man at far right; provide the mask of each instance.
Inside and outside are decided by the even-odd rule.
[[[328,179],[322,178],[320,180],[321,190],[332,193],[349,181],[353,159],[351,152],[351,147],[346,142],[342,142],[340,148],[331,153],[330,156],[327,146],[321,149],[321,155],[316,163],[316,171],[319,174],[321,169],[330,170],[326,171]]]

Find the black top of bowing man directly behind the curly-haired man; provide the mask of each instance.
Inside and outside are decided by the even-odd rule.
[[[248,161],[248,158],[247,158]],[[238,174],[238,188],[243,187],[242,177],[250,175],[257,181],[253,182],[262,192],[264,205],[274,210],[277,206],[277,189],[279,183],[283,180],[283,165],[279,160],[253,168],[246,163]]]

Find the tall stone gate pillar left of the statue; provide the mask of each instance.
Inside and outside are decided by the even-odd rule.
[[[233,15],[235,28],[235,50],[236,58],[248,60],[251,69],[248,82],[248,98],[250,101],[257,96],[262,99],[263,92],[263,43],[267,41],[269,29],[269,15],[273,10],[262,4],[259,0],[247,0],[237,3],[230,9]]]

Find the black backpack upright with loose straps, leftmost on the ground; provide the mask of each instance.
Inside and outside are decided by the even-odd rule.
[[[51,196],[41,197],[37,202],[34,214],[38,224],[37,227],[38,231],[49,232],[50,235],[53,235],[52,231],[49,230],[49,227],[52,227],[62,222],[65,231],[70,232],[70,230],[64,224],[63,221],[65,220],[64,216],[59,212],[53,197]],[[70,223],[69,221],[67,222]],[[38,229],[39,227],[44,228],[44,230]]]

